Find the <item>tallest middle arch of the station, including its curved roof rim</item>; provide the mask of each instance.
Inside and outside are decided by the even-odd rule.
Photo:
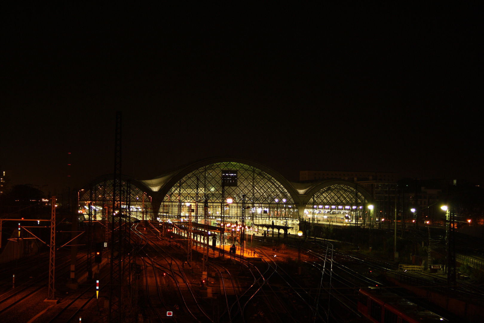
[[[234,181],[222,185],[223,174],[228,173]],[[276,171],[248,160],[205,159],[144,182],[158,188],[162,199],[160,218],[186,218],[193,210],[192,216],[197,221],[204,212],[205,200],[211,224],[222,216],[229,221],[240,220],[243,202],[247,223],[272,220],[281,223],[282,219],[298,217],[294,207],[298,195],[292,185]],[[227,198],[233,202],[227,203]]]

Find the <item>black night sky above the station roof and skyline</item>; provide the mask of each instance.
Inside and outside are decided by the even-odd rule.
[[[2,10],[12,184],[47,192],[111,173],[117,110],[123,172],[140,179],[219,155],[289,180],[484,179],[478,7],[116,5]]]

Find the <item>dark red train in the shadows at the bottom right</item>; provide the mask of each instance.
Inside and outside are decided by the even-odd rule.
[[[374,323],[449,322],[439,315],[378,287],[361,288],[358,311]]]

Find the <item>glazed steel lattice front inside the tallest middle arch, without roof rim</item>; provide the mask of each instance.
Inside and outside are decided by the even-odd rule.
[[[224,171],[236,171],[236,185],[222,187]],[[293,217],[294,213],[297,214],[287,189],[271,175],[242,163],[221,162],[201,167],[181,178],[168,190],[159,215],[185,218],[189,211],[187,203],[192,203],[196,204],[194,220],[197,221],[198,216],[203,215],[201,203],[208,200],[210,217],[225,215],[227,220],[235,221],[242,217],[243,195],[246,196],[246,205],[250,207],[246,217],[252,222],[255,216]],[[226,205],[228,197],[232,198],[233,203]]]

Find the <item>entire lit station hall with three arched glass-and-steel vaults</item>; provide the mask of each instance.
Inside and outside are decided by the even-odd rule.
[[[112,212],[112,193],[112,175],[94,179],[79,192],[79,213],[105,220]],[[373,220],[373,212],[367,212],[371,195],[353,182],[289,182],[273,169],[248,160],[205,159],[151,180],[122,176],[121,210],[132,220],[191,218],[204,224],[205,203],[209,225],[229,226],[236,221],[241,225],[243,218],[247,230],[254,233],[262,224],[296,232],[304,220],[313,225],[365,225]]]

